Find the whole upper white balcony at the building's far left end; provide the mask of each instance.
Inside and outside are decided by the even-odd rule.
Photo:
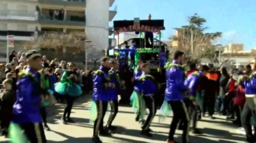
[[[37,11],[0,11],[0,20],[37,21]]]

